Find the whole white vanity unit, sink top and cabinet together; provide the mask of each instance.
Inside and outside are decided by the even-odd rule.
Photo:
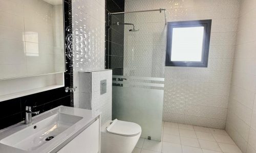
[[[100,115],[59,106],[1,130],[0,152],[100,152]]]

